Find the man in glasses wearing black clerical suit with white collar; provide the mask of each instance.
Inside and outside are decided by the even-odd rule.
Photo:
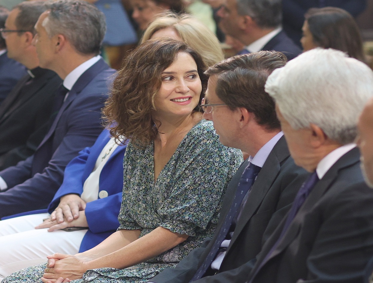
[[[48,119],[62,80],[54,71],[39,67],[36,49],[31,44],[34,25],[46,9],[44,1],[26,1],[15,6],[2,32],[8,57],[25,65],[28,74],[0,105],[0,170],[31,156],[50,127]]]

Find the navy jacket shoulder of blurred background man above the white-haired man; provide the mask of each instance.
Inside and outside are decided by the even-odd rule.
[[[297,57],[302,53],[302,50],[285,34],[280,31],[274,36],[261,50],[279,51],[286,55],[288,60]]]

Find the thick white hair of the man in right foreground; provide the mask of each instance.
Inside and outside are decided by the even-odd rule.
[[[312,123],[347,144],[354,141],[358,116],[373,96],[373,71],[342,51],[316,48],[274,70],[265,90],[295,130]]]

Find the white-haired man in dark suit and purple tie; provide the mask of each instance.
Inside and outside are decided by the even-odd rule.
[[[310,50],[275,70],[266,92],[295,163],[312,174],[250,276],[237,282],[363,282],[373,254],[373,190],[353,141],[373,96],[372,70],[341,51]]]

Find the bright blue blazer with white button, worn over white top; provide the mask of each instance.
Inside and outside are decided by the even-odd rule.
[[[56,209],[64,195],[83,193],[84,182],[93,171],[96,160],[109,139],[109,130],[104,130],[92,147],[86,147],[79,156],[70,161],[65,169],[63,183],[48,206],[49,213]],[[83,238],[79,252],[95,247],[119,227],[118,214],[122,201],[125,151],[126,145],[118,146],[101,171],[99,192],[104,190],[108,196],[98,197],[97,200],[87,203],[85,216],[89,230]]]

